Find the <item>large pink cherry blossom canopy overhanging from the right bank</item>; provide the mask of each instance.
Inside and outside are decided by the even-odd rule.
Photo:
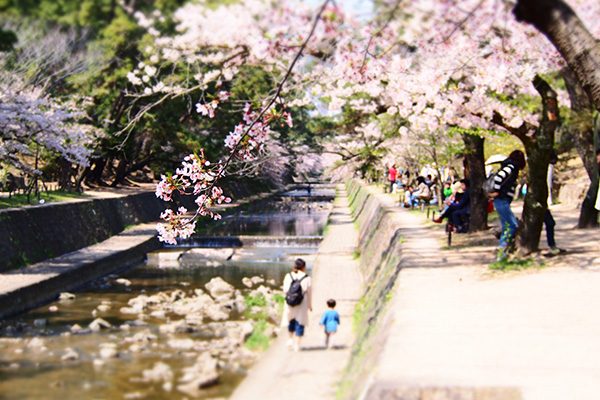
[[[211,164],[210,182],[223,176],[230,160],[253,160],[254,152],[262,149],[270,136],[273,122],[291,124],[287,107],[315,101],[325,104],[333,115],[344,109],[365,115],[352,132],[344,133],[349,135],[348,140],[339,141],[347,152],[356,137],[366,138],[362,144],[381,146],[386,140],[403,135],[444,135],[448,129],[481,134],[500,127],[514,133],[513,128],[538,126],[538,119],[538,131],[544,131],[548,105],[542,96],[543,101],[537,106],[527,106],[541,94],[540,85],[531,82],[536,77],[538,82],[543,80],[539,75],[554,73],[565,64],[542,35],[515,19],[510,2],[379,4],[379,17],[361,24],[325,1],[308,35],[302,26],[310,20],[310,10],[294,2],[248,0],[216,9],[188,4],[176,13],[178,33],[170,36],[163,36],[157,28],[160,14],[138,14],[139,23],[156,41],[147,49],[150,65],[141,63],[129,79],[139,87],[138,95],[159,96],[141,112],[169,98],[200,90],[196,110],[212,118],[224,101],[240,101],[225,93],[222,97],[221,92],[226,89],[221,88],[226,87],[241,65],[261,64],[278,78],[281,83],[269,99],[258,104],[241,101],[244,120],[225,142],[229,156]],[[227,18],[223,18],[225,15]],[[304,57],[305,62],[299,65],[297,70],[301,73],[293,73],[302,54],[311,57]],[[189,71],[189,81],[170,82],[169,69]],[[553,93],[558,104],[568,104],[566,92],[556,88]],[[382,114],[389,115],[396,126],[388,137],[384,137],[384,132],[389,131],[381,129],[381,120],[369,117]],[[138,115],[133,116],[132,124]],[[517,137],[523,140],[530,158],[539,161],[536,170],[545,172],[547,160],[539,155],[552,143]],[[360,141],[354,144],[361,145]],[[196,169],[207,168],[201,165],[202,157],[194,162]],[[481,163],[475,164],[482,169]],[[483,174],[476,176],[481,180]],[[184,179],[183,183],[178,179],[181,176],[177,174],[165,176],[160,194],[166,188],[186,192],[196,186],[193,179]],[[478,182],[474,183],[478,186]],[[210,199],[208,205],[218,201],[221,194],[213,197],[210,192],[214,183],[203,184],[203,199]],[[531,182],[533,193],[543,193],[539,185],[538,180]],[[526,202],[526,216],[533,209],[537,210],[535,215],[545,210],[547,205],[541,197],[535,195]],[[208,214],[202,206],[199,210]],[[169,215],[169,221],[177,222],[174,215],[177,214]],[[528,250],[535,250],[541,230],[539,218],[525,218],[525,224],[532,239],[523,244]]]

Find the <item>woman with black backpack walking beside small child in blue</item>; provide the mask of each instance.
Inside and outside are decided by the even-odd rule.
[[[283,279],[283,292],[286,296],[282,325],[288,327],[288,347],[299,351],[300,340],[308,325],[308,312],[312,311],[312,282],[303,259],[298,258],[292,271]]]

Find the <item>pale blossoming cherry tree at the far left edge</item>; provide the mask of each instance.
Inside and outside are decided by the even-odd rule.
[[[18,40],[0,53],[0,162],[32,176],[32,182],[47,161],[40,155],[87,166],[100,131],[81,111],[86,99],[61,100],[51,94],[96,58],[74,50],[79,46],[74,31],[44,34],[35,24],[11,29]]]

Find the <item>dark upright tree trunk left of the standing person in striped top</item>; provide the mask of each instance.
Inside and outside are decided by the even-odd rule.
[[[462,136],[465,144],[465,178],[469,180],[471,188],[469,231],[482,231],[487,229],[488,204],[487,196],[483,191],[485,181],[484,139],[468,133],[464,133]]]

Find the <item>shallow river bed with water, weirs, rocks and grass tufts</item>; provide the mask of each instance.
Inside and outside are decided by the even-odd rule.
[[[310,194],[310,196],[309,196]],[[178,246],[0,322],[0,399],[227,398],[277,334],[335,190],[246,205]]]

